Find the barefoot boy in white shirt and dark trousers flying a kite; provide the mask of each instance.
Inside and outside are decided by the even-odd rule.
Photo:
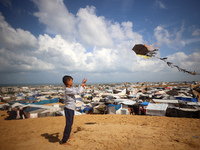
[[[87,79],[83,79],[81,85],[77,88],[72,87],[73,78],[71,76],[64,76],[63,83],[66,86],[65,89],[65,118],[66,118],[66,126],[63,133],[62,145],[70,145],[67,143],[67,140],[70,138],[71,127],[74,120],[74,110],[76,107],[76,99],[75,95],[80,94],[83,91],[83,87],[85,86]]]

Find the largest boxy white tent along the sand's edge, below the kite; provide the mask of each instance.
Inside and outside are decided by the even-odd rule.
[[[152,116],[165,116],[168,104],[149,103],[146,108],[146,114]]]

